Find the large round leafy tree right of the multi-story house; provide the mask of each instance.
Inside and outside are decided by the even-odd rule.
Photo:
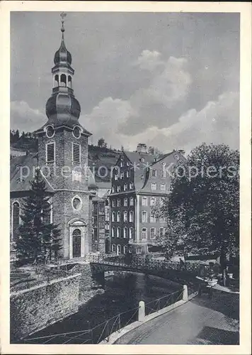
[[[239,255],[239,152],[203,143],[173,170],[171,193],[162,207],[173,224],[183,223],[187,251],[220,257]]]

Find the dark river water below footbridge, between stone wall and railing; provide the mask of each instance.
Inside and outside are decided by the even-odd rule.
[[[181,289],[181,285],[170,280],[143,273],[126,272],[105,277],[102,286],[105,292],[96,295],[86,305],[81,306],[79,312],[36,332],[32,337],[91,329],[119,313],[132,310],[139,305],[140,300],[147,303]],[[44,340],[38,340],[36,344],[42,344]],[[62,344],[62,342],[62,339],[56,338],[47,344]],[[80,344],[78,339],[76,344]]]

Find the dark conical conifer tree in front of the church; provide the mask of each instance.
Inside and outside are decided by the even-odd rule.
[[[35,178],[30,182],[30,195],[23,202],[21,214],[20,236],[17,240],[19,257],[38,261],[58,256],[61,246],[60,230],[50,222],[50,196],[45,188],[39,168],[35,170]]]

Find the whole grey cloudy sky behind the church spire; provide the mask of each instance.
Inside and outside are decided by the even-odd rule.
[[[60,25],[57,12],[11,14],[11,129],[47,119]],[[238,13],[71,12],[65,29],[90,143],[239,148]]]

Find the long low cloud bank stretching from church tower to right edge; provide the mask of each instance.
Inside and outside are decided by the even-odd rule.
[[[93,124],[94,138],[101,136],[113,147],[135,150],[137,143],[156,146],[161,151],[184,149],[189,153],[201,143],[224,143],[239,148],[239,93],[224,92],[215,101],[207,102],[200,110],[190,109],[174,124],[159,128],[156,121],[140,133],[129,136],[118,131],[120,121],[125,122],[132,114],[129,102],[120,99],[104,99],[92,114],[86,116],[88,125]],[[100,119],[100,125],[97,119]],[[98,132],[98,133],[97,133]]]

